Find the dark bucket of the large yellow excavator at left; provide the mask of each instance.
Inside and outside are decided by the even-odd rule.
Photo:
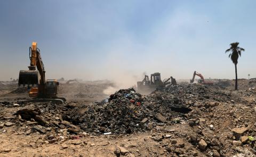
[[[19,86],[37,86],[39,84],[37,70],[20,70]]]

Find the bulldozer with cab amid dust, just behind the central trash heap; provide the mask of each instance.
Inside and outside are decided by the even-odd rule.
[[[159,72],[150,75],[150,80],[148,75],[145,75],[142,81],[137,82],[137,89],[140,93],[150,93],[155,89],[162,89],[167,85],[171,84],[169,82],[171,78],[161,80],[161,74]]]

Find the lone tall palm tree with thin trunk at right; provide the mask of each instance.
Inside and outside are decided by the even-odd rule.
[[[238,63],[238,57],[241,56],[241,52],[244,51],[244,48],[238,47],[238,42],[231,43],[230,48],[226,50],[225,53],[230,52],[229,56],[232,62],[235,64],[235,70],[236,70],[236,84],[235,84],[235,90],[237,90],[237,68],[236,65]]]

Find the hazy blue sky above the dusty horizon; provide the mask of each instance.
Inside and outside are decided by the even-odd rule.
[[[256,1],[0,1],[0,80],[27,70],[37,42],[46,78],[136,84],[143,74],[235,78],[225,54],[245,49],[238,78],[256,77]]]

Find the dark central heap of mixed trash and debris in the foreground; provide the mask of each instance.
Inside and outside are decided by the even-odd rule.
[[[150,97],[142,97],[129,88],[110,95],[106,103],[78,106],[67,114],[75,125],[89,133],[130,134],[153,129],[181,116],[179,111],[173,111],[172,106],[156,104]],[[190,111],[185,106],[176,106],[176,109]]]

